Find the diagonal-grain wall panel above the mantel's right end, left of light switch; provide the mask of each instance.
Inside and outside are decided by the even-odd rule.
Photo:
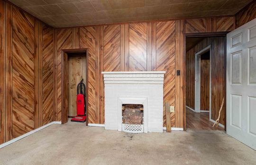
[[[164,102],[175,106],[175,22],[156,23],[156,71],[166,71]],[[175,126],[175,116],[171,119]],[[164,125],[165,107],[164,107]]]

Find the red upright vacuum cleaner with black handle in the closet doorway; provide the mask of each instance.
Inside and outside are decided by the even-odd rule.
[[[76,113],[77,115],[71,119],[72,122],[82,122],[86,121],[86,106],[85,106],[85,84],[83,79],[77,84],[76,87]]]

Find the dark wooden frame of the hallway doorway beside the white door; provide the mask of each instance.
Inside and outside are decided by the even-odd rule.
[[[230,32],[230,31],[229,31]],[[183,84],[183,131],[186,131],[186,38],[189,37],[218,37],[218,36],[227,36],[227,33],[229,32],[202,32],[202,33],[183,33],[183,77],[182,81],[185,82]],[[227,42],[225,42],[225,51],[227,47]],[[225,59],[226,61],[226,59]],[[227,70],[227,69],[226,69]],[[225,70],[225,75],[226,75],[226,70]],[[226,77],[227,78],[227,77]],[[226,81],[226,80],[225,80]],[[227,114],[226,114],[227,115]],[[226,130],[226,122],[225,122],[225,130]]]

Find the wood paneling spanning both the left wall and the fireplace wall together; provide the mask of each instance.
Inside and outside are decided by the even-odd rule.
[[[104,124],[102,71],[164,70],[172,126],[183,127],[184,34],[233,29],[233,16],[54,29],[0,0],[0,143],[61,121],[62,49],[89,50],[89,123]]]

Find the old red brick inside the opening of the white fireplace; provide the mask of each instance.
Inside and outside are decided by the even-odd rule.
[[[122,116],[124,124],[143,124],[143,105],[123,104]]]

